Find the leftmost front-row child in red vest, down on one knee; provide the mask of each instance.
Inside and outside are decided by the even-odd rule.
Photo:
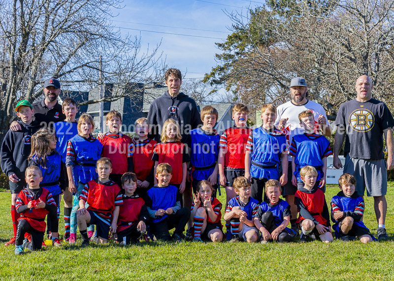
[[[26,183],[29,187],[19,192],[16,198],[16,211],[21,217],[18,219],[18,229],[15,239],[15,254],[23,254],[24,248],[29,250],[41,250],[45,233],[45,217],[49,213],[51,219],[52,234],[58,236],[58,214],[56,202],[52,194],[45,188],[40,187],[42,181],[41,170],[37,166],[30,166],[25,171]],[[25,239],[25,233],[32,235],[32,242]],[[56,246],[60,246],[57,243]]]

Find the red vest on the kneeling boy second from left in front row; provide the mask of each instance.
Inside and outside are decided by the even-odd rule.
[[[95,180],[90,181],[88,193],[88,210],[112,211],[115,209],[115,198],[120,192],[120,187],[100,185]]]

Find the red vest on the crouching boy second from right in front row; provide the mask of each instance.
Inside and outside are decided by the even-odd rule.
[[[302,200],[308,212],[315,218],[319,223],[327,225],[326,219],[322,217],[323,206],[325,202],[324,192],[318,188],[315,193],[305,193],[297,190],[295,197]],[[299,210],[298,210],[299,212]],[[296,223],[300,222],[302,219],[301,214],[298,216]]]

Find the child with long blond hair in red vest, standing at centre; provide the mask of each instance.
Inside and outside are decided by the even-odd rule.
[[[186,187],[187,162],[190,161],[190,156],[186,152],[186,146],[180,142],[181,139],[178,123],[171,118],[167,119],[162,129],[162,142],[156,144],[152,160],[155,161],[155,171],[161,163],[168,163],[172,167],[172,178],[169,184],[178,187],[181,194],[181,206],[183,206],[182,193]],[[155,179],[155,185],[157,184],[157,179]]]

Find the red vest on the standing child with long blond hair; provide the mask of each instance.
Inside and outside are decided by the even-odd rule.
[[[182,160],[185,145],[178,142],[158,143],[154,151],[159,156],[159,164],[168,163],[172,167],[172,178],[170,185],[182,183]]]

